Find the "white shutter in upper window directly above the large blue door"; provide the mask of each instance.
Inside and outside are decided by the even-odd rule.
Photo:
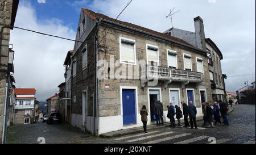
[[[121,59],[126,62],[135,62],[134,58],[134,45],[133,44],[125,44],[121,45]]]

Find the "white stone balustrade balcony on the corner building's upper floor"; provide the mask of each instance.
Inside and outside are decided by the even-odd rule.
[[[164,68],[162,66],[146,66],[146,70],[142,70],[142,75],[146,72],[146,80],[142,81],[142,87],[144,87],[144,82],[151,79],[158,79],[159,81],[164,81],[164,87],[167,87],[168,83],[172,81],[181,82],[184,88],[189,82],[195,82],[200,85],[201,73],[192,72],[189,70]]]

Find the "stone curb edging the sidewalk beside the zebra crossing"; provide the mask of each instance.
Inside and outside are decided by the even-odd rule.
[[[202,119],[197,119],[196,121],[199,122],[199,121],[202,121]],[[182,122],[182,124],[184,124],[184,122]],[[160,127],[150,127],[150,128],[147,128],[147,131],[150,131],[150,130],[153,130],[153,129],[160,129],[160,128],[166,128],[166,127],[169,127],[169,125],[163,125],[163,126],[160,126]],[[135,131],[127,131],[127,132],[123,132],[123,133],[114,133],[114,134],[101,134],[100,137],[101,138],[110,138],[110,137],[120,137],[120,136],[125,136],[125,135],[132,135],[134,133],[142,133],[144,130],[143,128],[142,129],[137,129]]]

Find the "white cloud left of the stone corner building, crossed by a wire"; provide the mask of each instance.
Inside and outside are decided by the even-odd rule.
[[[39,21],[29,3],[19,4],[15,26],[70,39],[75,39],[76,34],[60,19]],[[64,82],[64,59],[74,42],[14,28],[10,44],[15,51],[15,86],[35,87],[36,98],[41,101],[54,95],[59,90],[57,86]]]

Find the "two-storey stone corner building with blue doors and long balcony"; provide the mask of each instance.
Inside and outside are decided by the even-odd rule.
[[[156,100],[163,103],[164,122],[170,102],[191,100],[198,116],[201,103],[212,102],[206,49],[84,8],[76,40],[69,64],[73,126],[100,135],[142,126],[143,105],[154,124]]]

